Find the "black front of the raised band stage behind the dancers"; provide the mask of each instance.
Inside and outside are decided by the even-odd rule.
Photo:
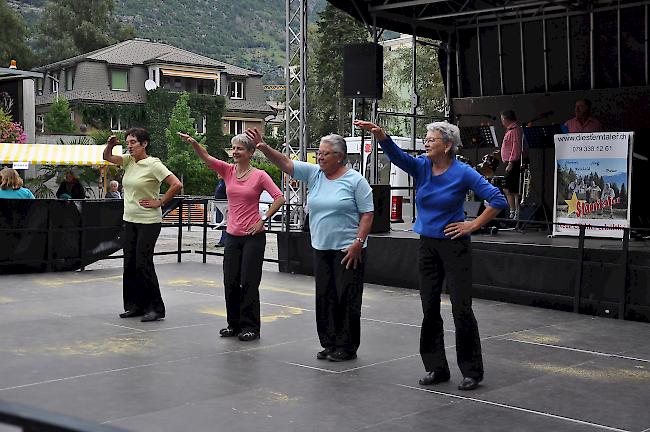
[[[366,282],[418,287],[418,235],[410,230],[372,234]],[[288,245],[288,247],[287,247]],[[307,233],[278,235],[282,271],[311,275]],[[650,321],[650,242],[577,237],[549,238],[545,231],[499,231],[472,236],[474,295],[523,305]],[[627,289],[626,289],[627,287]],[[620,299],[625,298],[625,310]],[[579,301],[578,301],[579,299]]]

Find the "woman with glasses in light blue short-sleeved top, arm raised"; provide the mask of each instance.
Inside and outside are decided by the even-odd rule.
[[[361,339],[366,237],[374,210],[372,189],[361,174],[346,167],[347,146],[339,135],[321,138],[318,165],[292,161],[262,142],[255,129],[246,135],[271,162],[309,188],[316,329],[323,347],[316,358],[355,359]]]

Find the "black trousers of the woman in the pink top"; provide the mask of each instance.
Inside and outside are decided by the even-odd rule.
[[[223,284],[228,327],[260,331],[260,281],[266,234],[228,234],[223,258]]]

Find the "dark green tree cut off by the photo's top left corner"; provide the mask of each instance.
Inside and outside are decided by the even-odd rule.
[[[27,27],[7,0],[0,0],[0,23],[0,67],[9,67],[11,60],[16,60],[19,69],[30,69],[34,53],[27,45]]]

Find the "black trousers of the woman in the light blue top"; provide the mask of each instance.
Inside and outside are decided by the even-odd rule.
[[[356,270],[341,264],[345,252],[314,250],[316,330],[323,348],[356,353],[361,343],[361,299],[366,251]]]

